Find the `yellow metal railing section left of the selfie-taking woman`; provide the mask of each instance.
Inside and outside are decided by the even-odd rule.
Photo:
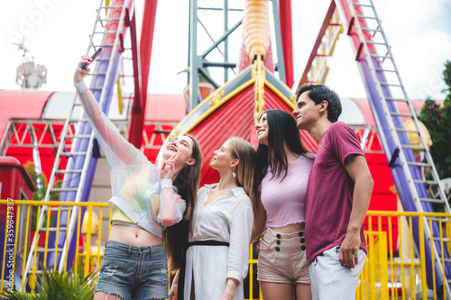
[[[33,207],[34,206],[34,207]],[[70,215],[73,210],[78,211],[78,222],[76,223],[75,232],[77,236],[77,248],[79,245],[80,237],[83,240],[83,249],[78,248],[75,250],[75,261],[78,262],[79,259],[84,259],[84,272],[85,276],[89,272],[97,271],[97,269],[93,269],[93,267],[99,268],[101,265],[101,259],[103,258],[103,253],[101,251],[101,244],[105,244],[105,242],[101,242],[102,237],[102,222],[99,222],[98,226],[98,240],[97,242],[93,242],[93,234],[91,231],[91,223],[92,223],[92,215],[93,212],[96,211],[97,215],[99,215],[99,219],[102,220],[104,215],[109,215],[111,217],[110,210],[107,204],[100,203],[64,203],[64,202],[41,202],[41,201],[22,201],[22,200],[0,200],[0,210],[4,210],[7,207],[12,207],[11,214],[9,214],[4,220],[0,220],[0,228],[5,226],[5,235],[3,242],[3,262],[2,262],[2,277],[0,278],[0,292],[3,292],[4,288],[12,287],[13,283],[8,275],[15,274],[15,278],[21,278],[20,288],[24,289],[25,277],[27,277],[28,285],[33,287],[35,283],[35,279],[38,277],[40,264],[43,267],[48,268],[48,256],[53,254],[53,269],[57,269],[57,254],[59,252],[58,243],[55,243],[54,248],[49,248],[49,238],[51,232],[55,232],[55,240],[58,241],[60,238],[61,232],[66,230],[66,226],[60,227],[61,221],[61,212],[67,211],[67,218],[65,219],[66,223],[70,222]],[[32,214],[32,210],[36,209],[37,214]],[[38,232],[38,218],[41,214],[41,210],[45,207],[45,209],[50,210],[51,214],[46,215],[45,226],[41,228],[41,232]],[[81,211],[82,208],[86,209],[85,218],[87,220],[87,232],[81,232]],[[34,220],[32,220],[32,218]],[[51,229],[52,219],[57,219],[57,226],[55,229]],[[34,228],[32,228],[32,221],[36,223]],[[109,227],[109,226],[108,226]],[[109,230],[107,232],[109,234]],[[0,233],[1,234],[1,233]],[[108,234],[104,234],[105,240]],[[14,236],[14,238],[13,238]],[[30,245],[32,245],[32,241],[37,239],[37,246],[34,248],[32,253],[30,251]],[[43,241],[43,245],[41,245],[40,241]],[[69,234],[66,234],[66,244],[69,243]],[[97,248],[97,253],[91,253],[91,247]],[[68,248],[66,248],[65,257],[68,256]],[[7,253],[12,252],[13,255],[6,255]],[[26,261],[29,257],[32,256],[32,268],[31,272],[26,273]],[[98,267],[97,267],[98,266]],[[16,272],[16,268],[20,268],[18,272]],[[5,274],[5,270],[8,270],[8,274]],[[64,264],[64,271],[67,271],[66,264]],[[74,272],[77,274],[77,263],[74,264]],[[9,285],[8,285],[9,284]]]

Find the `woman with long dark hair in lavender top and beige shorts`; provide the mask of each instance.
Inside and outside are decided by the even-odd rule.
[[[315,155],[302,146],[291,114],[265,111],[255,129],[259,147],[253,241],[262,237],[257,264],[262,296],[265,300],[311,299],[304,205]]]

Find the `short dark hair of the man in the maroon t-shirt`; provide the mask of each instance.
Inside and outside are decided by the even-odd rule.
[[[334,123],[338,121],[338,117],[341,114],[342,106],[340,102],[340,97],[335,91],[330,89],[325,85],[314,85],[307,84],[299,86],[296,91],[296,101],[298,101],[299,96],[303,93],[308,92],[308,97],[315,102],[315,105],[319,105],[324,100],[327,101],[327,119]]]

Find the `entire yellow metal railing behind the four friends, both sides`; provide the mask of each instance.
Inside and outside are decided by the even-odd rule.
[[[37,214],[33,218],[37,218],[41,213],[41,209],[50,209],[51,214],[47,214],[46,223],[41,233],[38,235],[37,224],[32,228],[32,210],[37,209]],[[84,224],[86,232],[82,231],[82,224],[80,223],[82,208],[86,209],[84,215]],[[32,270],[28,277],[28,285],[32,286],[33,282],[39,275],[40,263],[46,266],[49,255],[54,255],[53,269],[57,268],[56,254],[58,253],[57,246],[50,248],[48,246],[51,232],[55,232],[58,239],[60,232],[65,231],[65,226],[60,228],[58,225],[51,230],[51,221],[56,218],[58,224],[62,220],[62,212],[67,211],[71,215],[73,210],[77,210],[78,222],[76,225],[78,249],[75,251],[75,262],[73,264],[74,272],[77,273],[77,262],[81,260],[84,264],[85,276],[89,272],[97,272],[101,266],[103,259],[103,246],[106,243],[109,235],[109,220],[111,213],[107,204],[100,203],[63,203],[63,202],[49,202],[44,203],[40,201],[20,201],[20,200],[0,200],[0,212],[6,211],[5,220],[0,219],[0,230],[5,228],[4,240],[0,239],[0,244],[3,246],[3,262],[0,278],[0,292],[5,288],[9,288],[11,284],[10,274],[19,274],[19,277],[25,277],[25,263],[27,259],[32,256]],[[98,229],[93,231],[92,225],[94,215],[98,215]],[[65,219],[69,223],[70,220]],[[451,241],[451,214],[443,213],[400,213],[400,212],[368,212],[365,221],[365,236],[368,245],[368,255],[365,261],[364,270],[359,278],[357,286],[357,299],[415,299],[419,294],[423,299],[427,298],[427,277],[425,259],[425,241],[424,235],[419,232],[414,232],[409,226],[412,222],[419,223],[419,232],[423,232],[425,223],[432,227],[433,223],[437,223],[440,228],[440,245],[446,250],[449,249],[449,242]],[[5,227],[3,227],[5,226]],[[107,228],[107,230],[106,230]],[[32,231],[35,231],[34,233]],[[2,232],[0,232],[1,236]],[[419,235],[419,250],[415,250],[413,237]],[[94,241],[97,236],[97,241]],[[81,238],[80,238],[81,237]],[[30,253],[30,245],[32,239],[41,241],[39,247],[36,247]],[[66,241],[69,237],[66,235]],[[0,247],[1,248],[1,247]],[[443,253],[443,251],[442,251]],[[256,252],[253,245],[250,246],[249,259],[249,277],[245,280],[245,298],[249,300],[262,299],[258,282],[256,280]],[[67,253],[66,253],[67,257]],[[442,257],[443,264],[444,258]],[[431,261],[434,266],[435,261]],[[16,272],[17,271],[17,272]],[[66,266],[64,266],[66,271]],[[437,278],[433,273],[433,282]],[[442,275],[444,277],[444,275]],[[21,279],[22,280],[22,279]],[[97,280],[97,277],[96,279]],[[22,280],[20,286],[24,288],[24,281]],[[437,295],[437,290],[434,286],[431,287],[434,295]],[[445,289],[443,294],[446,295]],[[436,298],[435,298],[436,299]]]

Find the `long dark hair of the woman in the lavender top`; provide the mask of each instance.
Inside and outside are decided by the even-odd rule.
[[[255,172],[253,173],[254,195],[258,195],[259,186],[268,168],[272,173],[272,178],[281,177],[282,173],[282,180],[287,176],[288,159],[287,153],[285,153],[285,144],[296,154],[305,156],[308,152],[300,142],[299,129],[291,114],[276,109],[267,110],[263,114],[266,114],[269,127],[268,146],[262,143],[258,144],[255,155]]]

